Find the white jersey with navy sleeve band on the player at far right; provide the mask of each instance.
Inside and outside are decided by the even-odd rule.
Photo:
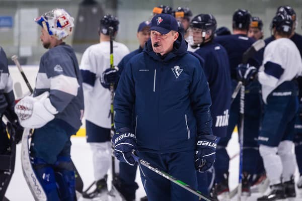
[[[264,103],[277,86],[301,73],[302,60],[296,45],[288,38],[270,42],[264,50],[263,63],[258,73]]]

